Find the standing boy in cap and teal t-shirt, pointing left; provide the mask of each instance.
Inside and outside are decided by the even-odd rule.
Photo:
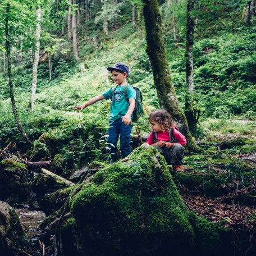
[[[113,163],[116,162],[117,159],[116,145],[119,135],[122,157],[124,158],[131,153],[131,119],[132,112],[135,108],[136,92],[132,86],[127,84],[126,78],[129,76],[129,67],[127,67],[124,63],[117,63],[113,67],[108,67],[107,70],[112,72],[113,80],[117,86],[115,88],[108,89],[105,93],[95,96],[80,107],[75,108],[77,110],[83,110],[99,100],[111,99],[112,103],[110,109],[107,143],[111,153],[109,161]],[[129,102],[125,98],[124,89],[127,90]]]

